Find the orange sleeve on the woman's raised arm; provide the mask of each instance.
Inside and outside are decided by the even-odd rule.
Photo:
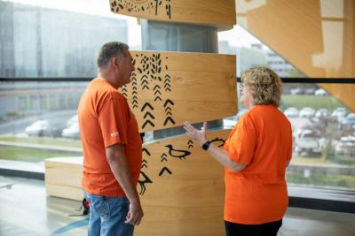
[[[233,162],[249,164],[256,147],[256,128],[248,114],[242,116],[229,141],[228,155]]]

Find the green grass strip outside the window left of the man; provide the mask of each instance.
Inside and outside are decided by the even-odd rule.
[[[55,156],[80,156],[80,154],[75,152],[48,151],[38,148],[0,146],[0,159],[4,160],[42,162],[46,158]]]

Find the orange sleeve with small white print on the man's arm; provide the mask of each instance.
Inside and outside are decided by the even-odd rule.
[[[123,99],[109,96],[99,110],[99,126],[105,147],[127,144],[128,110]]]

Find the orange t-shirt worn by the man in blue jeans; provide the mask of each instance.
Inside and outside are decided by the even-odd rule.
[[[124,145],[134,185],[142,163],[142,141],[137,120],[117,88],[102,78],[91,80],[79,103],[83,142],[83,189],[89,194],[124,196],[106,160],[106,148]]]

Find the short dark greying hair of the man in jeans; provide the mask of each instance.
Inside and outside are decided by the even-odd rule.
[[[106,67],[112,57],[125,57],[124,50],[129,46],[123,42],[106,42],[99,51],[98,67]]]

